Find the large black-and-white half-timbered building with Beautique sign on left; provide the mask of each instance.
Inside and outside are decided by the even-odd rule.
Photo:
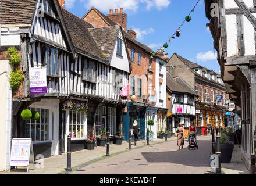
[[[94,28],[62,3],[1,1],[0,60],[7,74],[1,74],[1,81],[3,77],[8,98],[1,170],[8,169],[13,137],[31,138],[35,158],[47,158],[67,151],[69,134],[72,151],[77,151],[84,149],[89,135],[109,126],[113,136],[122,123],[126,101],[120,91],[129,83],[131,70],[122,27]],[[15,68],[6,52],[10,47],[22,59]],[[11,69],[22,70],[24,76],[17,90],[10,90]],[[22,120],[24,109],[38,112],[40,118]]]

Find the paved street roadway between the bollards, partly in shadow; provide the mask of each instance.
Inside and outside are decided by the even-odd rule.
[[[185,141],[179,150],[176,139],[133,149],[88,166],[72,174],[209,174],[211,136],[198,137],[199,149],[189,150]]]

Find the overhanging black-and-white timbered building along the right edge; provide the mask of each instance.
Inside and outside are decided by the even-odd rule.
[[[218,51],[221,77],[241,114],[242,159],[255,172],[253,135],[256,122],[256,1],[205,1],[207,26]]]

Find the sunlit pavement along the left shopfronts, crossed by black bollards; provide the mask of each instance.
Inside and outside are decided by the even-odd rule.
[[[174,137],[170,138],[175,140]],[[169,140],[169,138],[168,138]],[[165,139],[154,139],[150,141],[150,144],[158,144],[165,142]],[[132,145],[132,148],[143,148],[146,146],[147,141],[141,140],[137,142],[137,146]],[[129,151],[129,143],[123,142],[122,145],[110,145],[111,155],[116,153],[123,153]],[[106,147],[97,146],[94,150],[82,150],[72,153],[72,170],[78,169],[79,166],[97,162],[98,160],[106,158]],[[12,170],[12,172],[0,172],[0,174],[59,174],[65,173],[67,163],[67,155],[64,153],[61,156],[52,156],[51,158],[45,158],[41,164],[30,164],[29,173],[26,173],[25,169]]]

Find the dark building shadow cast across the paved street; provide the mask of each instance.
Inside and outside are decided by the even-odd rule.
[[[184,166],[209,167],[209,156],[211,154],[211,141],[198,140],[199,149],[177,149],[167,152],[141,152],[149,163],[175,163]],[[185,142],[186,145],[186,142]]]

